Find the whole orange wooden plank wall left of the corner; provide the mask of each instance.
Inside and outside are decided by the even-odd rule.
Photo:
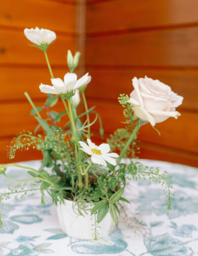
[[[44,53],[30,47],[23,32],[26,27],[36,26],[56,32],[48,56],[54,76],[63,78],[68,71],[67,50],[76,51],[75,0],[7,0],[0,8],[0,163],[41,158],[40,152],[30,150],[9,160],[5,151],[5,145],[16,133],[23,129],[33,131],[38,124],[29,114],[31,106],[24,91],[36,106],[41,106],[47,95],[40,92],[39,84],[50,84]],[[64,108],[60,103],[55,110],[61,112]]]

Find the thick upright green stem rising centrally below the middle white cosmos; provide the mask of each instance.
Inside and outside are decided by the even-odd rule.
[[[75,140],[75,143],[74,143],[75,155],[76,155],[76,160],[78,161],[78,150],[77,150],[78,136],[77,136],[77,132],[76,132],[76,126],[75,126],[75,122],[74,122],[74,116],[73,116],[73,112],[72,112],[70,99],[68,99],[67,102],[68,102],[68,107],[69,107],[69,116],[70,116],[71,126],[72,126],[74,140]],[[81,189],[83,187],[83,179],[82,179],[82,175],[81,175],[81,171],[80,171],[79,167],[78,167],[78,186]]]

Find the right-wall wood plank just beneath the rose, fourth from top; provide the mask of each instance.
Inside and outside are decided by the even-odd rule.
[[[96,111],[101,115],[105,132],[113,133],[115,129],[125,126],[121,123],[125,121],[123,108],[118,103],[88,98],[88,107],[92,106],[97,106]],[[182,115],[177,120],[169,118],[163,123],[156,124],[155,127],[161,132],[161,136],[147,124],[140,129],[139,138],[149,143],[198,153],[198,136],[195,136],[198,131],[198,114],[179,108],[178,111]],[[94,117],[91,116],[92,120]],[[96,122],[92,129],[99,130],[99,123]]]

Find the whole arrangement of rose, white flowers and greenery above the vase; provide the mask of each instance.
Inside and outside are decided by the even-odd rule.
[[[135,158],[140,149],[137,143],[140,128],[146,124],[154,128],[156,123],[163,122],[169,117],[177,119],[180,113],[176,111],[176,107],[182,104],[183,97],[178,96],[168,85],[158,80],[147,76],[140,79],[134,77],[132,79],[134,90],[130,96],[120,94],[118,97],[126,119],[126,127],[117,129],[107,139],[108,143],[98,146],[91,140],[91,127],[99,120],[99,132],[102,137],[101,118],[94,107],[88,109],[85,96],[91,76],[86,73],[77,79],[74,73],[80,53],[76,52],[72,56],[71,51],[68,50],[67,64],[70,72],[64,75],[63,80],[54,78],[47,49],[56,39],[55,33],[38,27],[26,28],[24,33],[33,43],[32,46],[44,52],[52,85],[41,83],[39,86],[42,93],[48,94],[42,107],[35,106],[28,93],[24,93],[32,106],[30,114],[38,121],[38,126],[34,132],[28,131],[15,137],[7,150],[9,158],[13,159],[16,150],[28,150],[29,147],[33,147],[42,151],[43,161],[39,170],[17,164],[0,165],[0,174],[15,183],[23,184],[22,188],[18,188],[17,185],[14,189],[8,188],[7,192],[0,194],[0,202],[9,199],[12,195],[17,199],[24,198],[29,192],[40,191],[42,204],[46,203],[47,194],[56,205],[64,204],[64,199],[69,199],[77,205],[78,213],[83,215],[87,210],[86,203],[90,202],[92,207],[89,210],[92,215],[97,216],[98,223],[110,212],[117,225],[119,203],[122,201],[130,203],[122,196],[127,181],[143,178],[153,182],[158,181],[167,197],[167,208],[171,209],[172,187],[169,185],[166,172],[161,172],[158,168],[153,170],[152,167],[144,167],[131,158]],[[85,112],[77,114],[80,94]],[[61,113],[50,111],[58,100],[62,101],[65,111]],[[47,119],[42,118],[40,112],[43,109],[47,111]],[[96,115],[95,120],[91,120],[91,113]],[[64,118],[69,121],[65,121],[65,125],[59,127],[57,123]],[[43,128],[43,131],[38,132],[39,128]],[[121,161],[126,157],[130,158],[129,164]],[[26,169],[32,177],[24,181],[15,181],[6,174],[8,166]],[[27,185],[24,183],[27,181],[33,183],[26,189]]]

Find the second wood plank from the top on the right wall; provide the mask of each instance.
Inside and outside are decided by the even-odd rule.
[[[198,27],[87,39],[87,65],[198,66]]]

